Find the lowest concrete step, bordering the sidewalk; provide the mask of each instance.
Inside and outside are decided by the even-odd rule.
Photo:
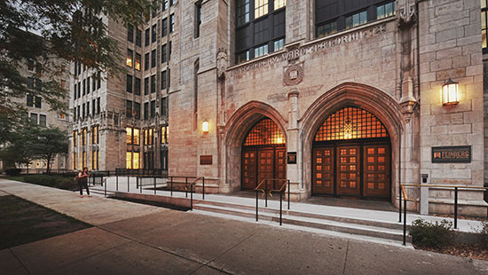
[[[239,206],[239,205],[238,205]],[[241,216],[249,219],[256,218],[256,208],[251,210],[248,208],[235,208],[233,206],[218,206],[210,203],[199,203],[193,206],[193,209],[198,210],[201,214],[207,213],[219,213],[230,216]],[[309,217],[309,216],[296,216],[294,213],[289,211],[285,214],[283,211],[282,223],[291,224],[298,227],[304,228],[314,228],[319,230],[325,230],[329,232],[342,232],[353,235],[373,237],[383,240],[403,240],[403,227],[402,229],[392,229],[387,227],[382,227],[382,223],[370,222],[370,224],[357,224],[350,223],[345,219],[342,221],[336,221],[334,219],[329,219],[327,216]],[[272,212],[270,209],[264,209],[258,216],[259,220],[272,221],[279,223],[279,213]],[[411,237],[407,236],[407,241],[411,241]]]

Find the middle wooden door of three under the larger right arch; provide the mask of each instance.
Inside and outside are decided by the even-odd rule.
[[[337,194],[360,195],[359,146],[337,146]]]

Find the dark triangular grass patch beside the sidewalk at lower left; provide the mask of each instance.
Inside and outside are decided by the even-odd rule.
[[[91,227],[15,196],[0,196],[0,250]]]

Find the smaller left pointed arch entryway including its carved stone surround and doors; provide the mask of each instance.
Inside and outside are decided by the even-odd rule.
[[[269,130],[263,131],[264,128]],[[261,129],[262,133],[267,134],[256,135],[256,132]],[[249,189],[255,182],[253,177],[248,178],[248,183],[244,183],[244,167],[243,164],[246,161],[245,152],[256,149],[256,165],[257,153],[263,153],[265,164],[272,165],[266,169],[272,169],[272,171],[263,171],[259,173],[256,166],[256,182],[259,178],[270,177],[286,177],[287,166],[285,163],[277,167],[279,160],[285,161],[286,146],[287,146],[287,121],[283,115],[280,114],[276,108],[259,101],[250,101],[246,105],[241,106],[230,116],[229,120],[225,124],[224,129],[224,150],[223,155],[223,184],[221,191],[224,193],[240,191],[242,189]],[[254,132],[253,132],[254,131]],[[277,133],[280,134],[277,134]],[[261,137],[261,141],[257,141]],[[247,139],[249,140],[247,141]],[[256,139],[257,138],[257,139]],[[266,140],[264,141],[263,138]],[[266,148],[272,149],[271,151],[265,151]],[[269,155],[269,158],[268,158]],[[250,153],[248,158],[250,158]],[[268,158],[268,159],[266,159]],[[272,163],[267,163],[268,160]],[[278,170],[284,172],[284,175],[279,174]],[[261,174],[261,176],[260,176]],[[249,175],[248,175],[249,176]],[[256,185],[255,185],[256,186]],[[254,187],[253,187],[254,188]]]

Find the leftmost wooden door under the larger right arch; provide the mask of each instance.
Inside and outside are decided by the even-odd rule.
[[[313,193],[334,193],[334,147],[313,149]]]

